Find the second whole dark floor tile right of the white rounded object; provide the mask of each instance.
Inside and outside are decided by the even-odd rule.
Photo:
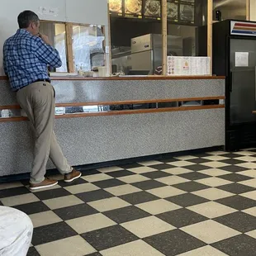
[[[138,239],[137,236],[121,227],[121,225],[113,225],[101,230],[85,233],[81,236],[98,251],[120,244],[127,244]]]

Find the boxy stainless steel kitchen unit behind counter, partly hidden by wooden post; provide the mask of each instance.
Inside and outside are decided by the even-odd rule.
[[[168,36],[168,55],[183,56],[183,38]],[[149,70],[162,65],[162,36],[148,34],[131,39],[131,68],[133,70]]]

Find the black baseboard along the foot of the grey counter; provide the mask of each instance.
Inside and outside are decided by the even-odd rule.
[[[205,148],[205,149],[193,149],[193,150],[186,150],[186,151],[180,151],[180,152],[174,152],[174,153],[166,153],[166,154],[154,154],[149,156],[142,156],[142,157],[136,157],[132,159],[121,159],[121,160],[115,160],[115,161],[108,161],[108,162],[102,162],[102,163],[95,163],[95,164],[85,164],[85,165],[79,165],[75,168],[78,169],[78,171],[81,171],[82,173],[86,173],[88,170],[96,169],[96,168],[104,168],[109,166],[115,166],[115,165],[124,165],[124,164],[133,164],[137,162],[144,162],[144,161],[151,161],[151,160],[161,160],[161,159],[168,159],[172,157],[178,157],[181,155],[186,154],[201,154],[216,150],[223,150],[223,146],[216,146],[211,148]],[[55,175],[59,174],[57,169],[50,169],[47,170],[46,176],[49,175]],[[0,177],[0,183],[12,183],[17,182],[21,180],[26,180],[30,178],[30,173],[21,173],[21,174],[12,174],[7,176]]]

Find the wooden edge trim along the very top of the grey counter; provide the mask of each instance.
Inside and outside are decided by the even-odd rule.
[[[130,80],[211,80],[225,79],[224,76],[147,76],[147,77],[106,77],[106,78],[78,78],[78,77],[51,77],[51,80],[73,80],[73,81],[130,81]],[[0,80],[7,81],[6,76],[0,76]]]

